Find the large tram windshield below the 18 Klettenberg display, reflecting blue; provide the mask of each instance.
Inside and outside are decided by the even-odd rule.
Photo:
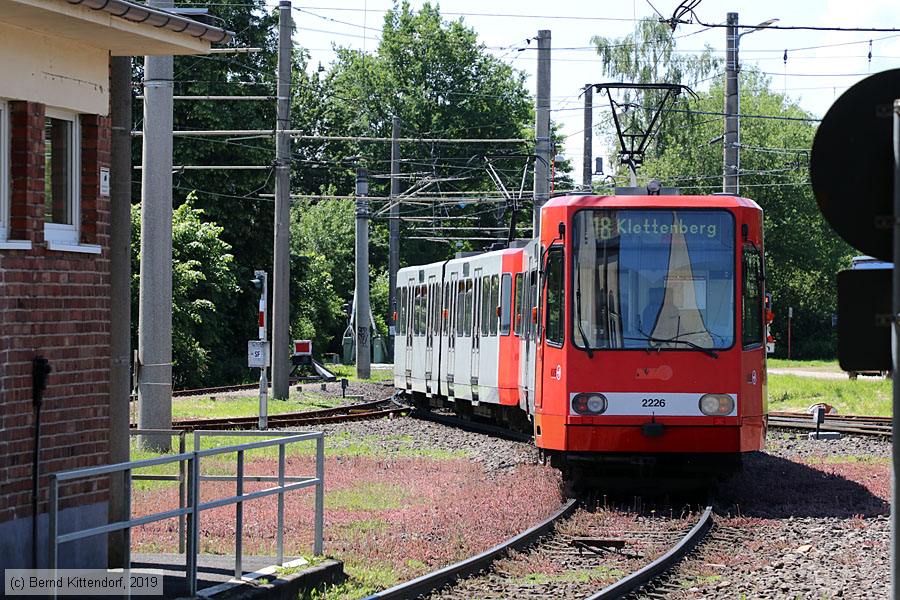
[[[730,348],[734,218],[725,210],[582,210],[573,339],[602,349]]]

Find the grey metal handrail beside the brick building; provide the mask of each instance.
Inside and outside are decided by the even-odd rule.
[[[145,433],[164,433],[165,430],[146,431]],[[220,448],[210,448],[206,450],[200,449],[201,435],[241,435],[241,436],[268,436],[274,439],[248,442],[244,444],[222,446]],[[316,441],[316,475],[315,477],[288,477],[285,474],[285,447],[288,444],[297,442]],[[261,448],[278,447],[278,475],[277,476],[246,476],[244,474],[244,453],[249,450],[257,450]],[[200,463],[201,459],[221,454],[237,455],[237,470],[235,476],[230,475],[207,475],[201,476]],[[180,506],[172,510],[164,510],[156,513],[144,515],[134,518],[131,515],[131,487],[132,481],[136,478],[133,471],[147,467],[178,463],[184,469],[186,476],[186,501],[179,501]],[[121,473],[124,477],[124,498],[125,498],[125,515],[126,519],[107,523],[97,527],[87,529],[76,529],[67,533],[59,532],[59,488],[60,484],[99,477],[102,475],[113,475]],[[177,478],[175,475],[168,476],[140,476],[141,478],[153,477],[159,479],[161,477]],[[200,483],[201,481],[235,481],[236,491],[234,495],[209,500],[207,502],[200,501]],[[277,482],[277,486],[268,487],[262,490],[252,492],[244,491],[244,482],[246,481],[269,481]],[[291,433],[273,433],[267,431],[197,431],[194,433],[194,450],[192,452],[180,452],[172,456],[160,456],[157,458],[148,458],[144,460],[129,461],[114,465],[105,465],[100,467],[87,467],[72,471],[64,471],[61,473],[50,474],[50,506],[49,506],[49,567],[57,569],[58,552],[61,544],[72,542],[80,539],[93,537],[114,531],[125,532],[125,551],[126,564],[131,564],[131,529],[139,525],[146,525],[165,519],[175,517],[186,518],[186,535],[185,535],[185,570],[188,585],[188,595],[195,596],[197,593],[197,558],[199,555],[199,534],[200,534],[200,514],[204,510],[218,508],[220,506],[236,505],[235,510],[235,579],[240,579],[242,572],[242,533],[243,533],[243,504],[250,500],[256,500],[267,496],[278,495],[278,522],[277,522],[277,562],[284,562],[284,494],[286,492],[299,490],[315,486],[315,531],[313,536],[313,554],[321,555],[323,552],[323,529],[324,529],[324,506],[325,506],[325,437],[322,432],[310,432],[301,434]]]

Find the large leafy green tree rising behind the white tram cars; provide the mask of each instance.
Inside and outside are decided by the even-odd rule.
[[[533,135],[532,100],[525,75],[492,56],[478,42],[475,31],[461,20],[443,20],[431,4],[413,11],[404,2],[389,11],[374,53],[343,48],[337,54],[328,72],[321,78],[311,78],[295,99],[295,103],[313,96],[322,99],[320,105],[307,111],[310,133],[389,137],[392,117],[397,115],[404,137],[490,139]],[[357,165],[368,167],[373,175],[370,195],[386,196],[389,192],[385,177],[390,165],[389,144],[303,140],[295,150],[310,167],[305,170],[321,176],[304,182],[309,192],[350,194]],[[429,191],[494,189],[482,157],[530,151],[509,144],[404,143],[401,188],[434,177],[441,181]],[[356,158],[337,160],[351,156]],[[515,187],[525,162],[522,156],[495,159],[510,182],[516,179]],[[375,209],[381,206],[373,204]],[[403,212],[434,217],[438,223],[442,216],[468,215],[472,217],[467,222],[472,226],[471,235],[483,235],[479,232],[484,227],[505,225],[508,218],[507,214],[498,216],[495,204],[404,206]],[[298,204],[292,211],[293,251],[323,257],[341,303],[353,297],[354,219],[353,202],[345,200]],[[387,221],[378,215],[370,224],[371,298],[376,322],[383,323],[388,310]],[[460,226],[461,222],[454,221],[453,225]],[[412,231],[403,225],[401,264],[445,259],[457,249],[409,239]],[[464,249],[481,246],[466,244]],[[339,340],[344,326],[341,322],[331,332],[332,344]]]

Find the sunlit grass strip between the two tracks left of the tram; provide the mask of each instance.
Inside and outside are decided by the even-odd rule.
[[[334,385],[334,384],[332,384]],[[288,400],[273,400],[269,398],[268,411],[270,415],[278,415],[288,412],[301,412],[306,410],[321,410],[334,408],[344,403],[342,398],[328,398],[319,394],[296,391],[291,393]],[[259,414],[259,395],[242,396],[216,396],[200,398],[173,398],[172,417],[175,419],[213,419],[221,417],[246,417]]]

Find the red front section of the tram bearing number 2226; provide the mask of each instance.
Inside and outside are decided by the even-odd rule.
[[[565,459],[762,448],[765,290],[755,202],[555,198],[542,210],[539,251],[543,334],[529,409],[540,448]]]

